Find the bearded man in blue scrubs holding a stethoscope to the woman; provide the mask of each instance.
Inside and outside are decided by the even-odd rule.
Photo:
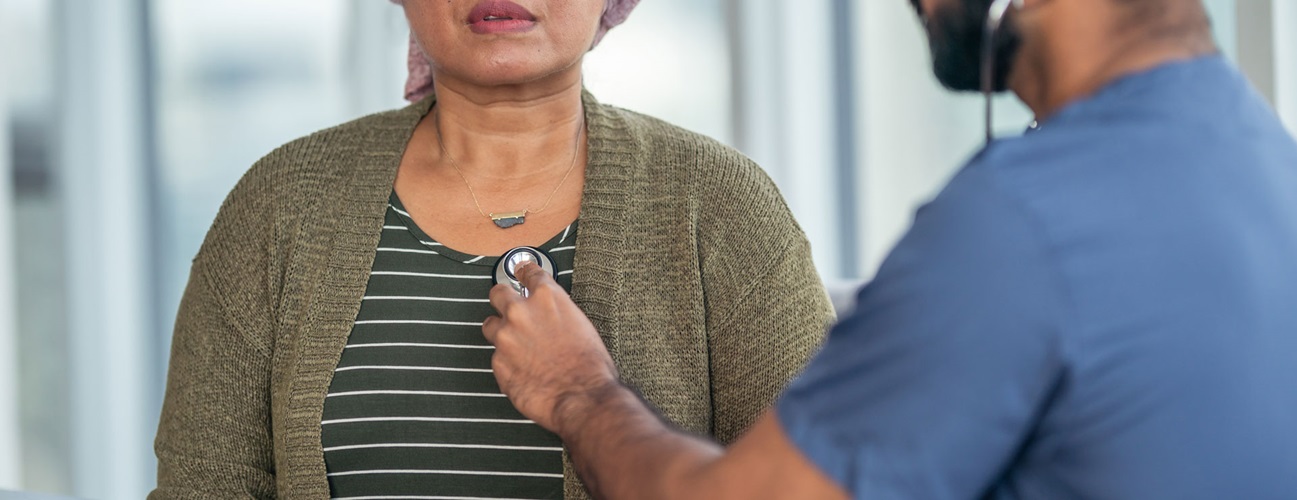
[[[979,87],[990,0],[914,0]],[[664,425],[542,272],[492,291],[503,391],[613,499],[1297,497],[1297,144],[1200,0],[1025,0],[974,157],[729,449]],[[754,269],[756,272],[757,269]]]

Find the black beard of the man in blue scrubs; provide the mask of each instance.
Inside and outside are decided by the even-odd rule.
[[[926,13],[929,49],[938,82],[952,91],[982,89],[982,32],[992,0],[949,0]],[[925,14],[918,1],[913,1]],[[992,89],[1008,89],[1009,71],[1017,58],[1022,35],[1012,16],[995,36],[995,80]]]

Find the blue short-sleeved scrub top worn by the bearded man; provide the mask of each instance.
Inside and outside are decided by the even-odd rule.
[[[860,499],[1297,499],[1297,144],[1220,57],[995,142],[777,412]]]

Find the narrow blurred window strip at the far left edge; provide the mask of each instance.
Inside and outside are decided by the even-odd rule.
[[[64,209],[57,189],[56,158],[56,40],[54,5],[43,0],[0,0],[0,133],[8,135],[12,209],[12,264],[0,267],[3,286],[16,288],[16,311],[8,320],[16,326],[17,364],[0,367],[17,374],[17,400],[0,400],[0,412],[17,409],[22,486],[51,492],[71,492],[71,443],[69,440],[69,350],[66,277],[64,271]],[[6,113],[8,111],[8,113]],[[4,154],[0,150],[0,154]],[[0,165],[5,162],[0,161]],[[0,199],[9,199],[3,197]],[[10,271],[12,269],[12,271]],[[0,335],[3,337],[3,335]],[[3,339],[0,339],[3,342]],[[0,373],[0,381],[10,373]],[[0,447],[4,443],[0,430]],[[3,462],[3,460],[0,460]],[[8,477],[0,472],[0,478]],[[17,484],[16,484],[17,486]]]

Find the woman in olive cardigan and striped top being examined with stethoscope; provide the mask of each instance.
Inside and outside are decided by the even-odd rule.
[[[152,497],[586,496],[490,373],[492,266],[520,245],[667,418],[752,422],[831,310],[752,162],[582,92],[633,4],[405,3],[431,93],[263,158],[195,258]]]

